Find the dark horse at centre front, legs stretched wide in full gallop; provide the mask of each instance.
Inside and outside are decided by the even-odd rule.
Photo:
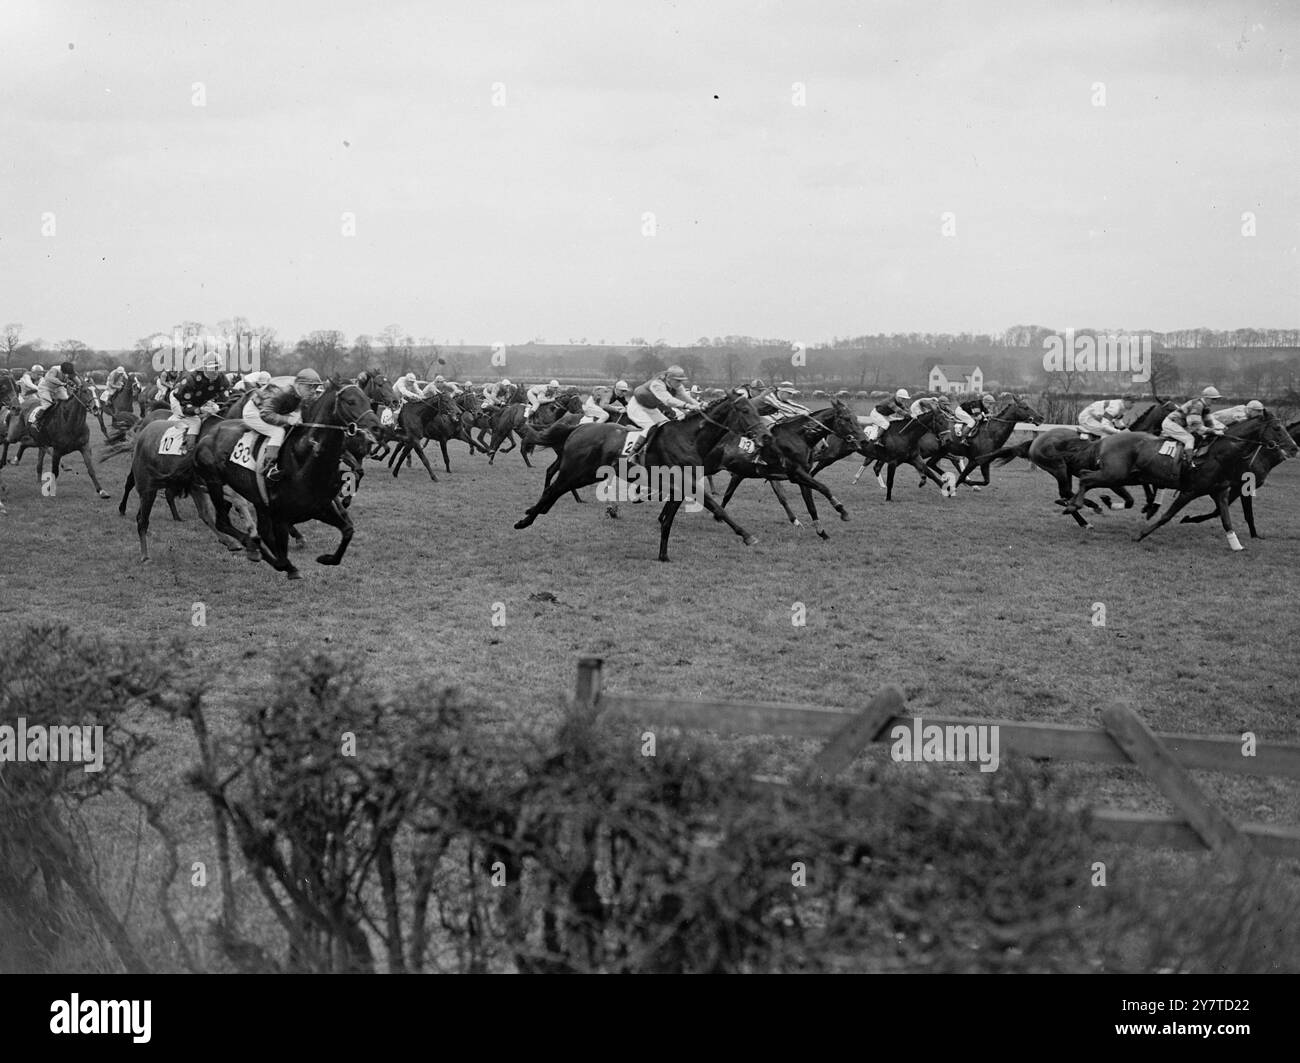
[[[650,429],[645,446],[637,457],[637,464],[654,470],[684,470],[702,468],[705,474],[720,468],[722,448],[719,443],[728,433],[748,435],[757,446],[763,446],[772,438],[771,429],[763,422],[753,400],[744,392],[732,392],[714,400],[703,409],[685,415],[681,420],[666,421]],[[564,439],[560,454],[560,468],[555,478],[542,491],[542,496],[530,506],[515,528],[524,529],[537,517],[549,512],[555,502],[577,487],[585,487],[601,480],[608,480],[611,472],[620,464],[628,430],[623,425],[589,424],[576,425]],[[697,485],[698,486],[698,485]],[[745,546],[758,542],[736,521],[718,500],[701,489],[703,504],[714,516],[722,520],[741,537]],[[668,560],[668,537],[672,522],[685,499],[668,499],[659,513],[659,560]]]

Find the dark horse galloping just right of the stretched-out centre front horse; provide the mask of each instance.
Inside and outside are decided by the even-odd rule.
[[[772,494],[776,495],[776,500],[781,503],[781,508],[785,511],[785,516],[790,524],[796,528],[802,528],[803,525],[794,516],[790,503],[781,490],[780,481],[788,480],[798,485],[800,493],[803,495],[803,506],[809,511],[809,517],[812,520],[812,529],[818,537],[823,539],[831,538],[818,519],[816,504],[812,502],[812,491],[826,495],[827,500],[829,500],[840,515],[840,520],[849,520],[849,512],[831,494],[829,487],[815,480],[811,472],[809,472],[811,455],[827,437],[845,441],[854,447],[866,442],[866,435],[862,431],[862,425],[858,424],[857,416],[840,399],[836,399],[826,409],[819,409],[815,413],[801,413],[788,421],[772,425],[772,441],[762,452],[745,448],[738,438],[723,441],[722,468],[732,476],[731,482],[727,485],[727,491],[723,494],[723,508],[727,508],[727,503],[731,502],[732,495],[736,494],[736,489],[742,481],[766,480],[772,489]],[[759,459],[766,460],[760,464]]]

